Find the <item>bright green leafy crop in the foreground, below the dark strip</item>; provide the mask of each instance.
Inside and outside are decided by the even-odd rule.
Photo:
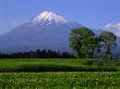
[[[1,73],[0,89],[120,89],[120,72]]]

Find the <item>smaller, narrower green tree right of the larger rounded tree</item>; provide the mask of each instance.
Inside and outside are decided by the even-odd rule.
[[[116,46],[117,36],[110,31],[101,31],[99,35],[100,42],[104,47],[105,56],[111,59],[111,50]]]

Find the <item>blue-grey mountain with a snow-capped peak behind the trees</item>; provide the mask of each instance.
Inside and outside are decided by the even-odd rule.
[[[56,13],[45,11],[28,22],[0,36],[0,52],[25,52],[51,49],[70,52],[71,29],[81,27]]]

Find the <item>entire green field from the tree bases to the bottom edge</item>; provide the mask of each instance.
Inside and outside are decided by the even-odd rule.
[[[2,59],[0,89],[120,89],[120,60]]]

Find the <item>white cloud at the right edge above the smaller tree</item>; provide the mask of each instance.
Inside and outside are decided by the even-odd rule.
[[[105,26],[105,29],[120,37],[120,23],[109,23]]]

